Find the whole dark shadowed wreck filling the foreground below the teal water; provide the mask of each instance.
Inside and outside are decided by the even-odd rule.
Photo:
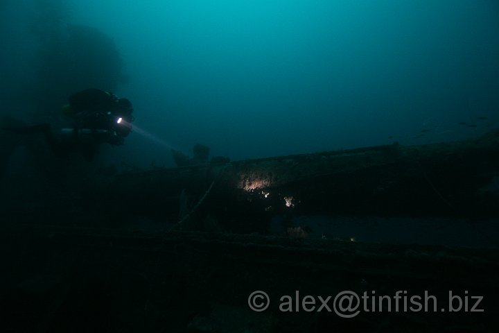
[[[498,176],[496,131],[81,177],[3,209],[1,325],[496,332]]]

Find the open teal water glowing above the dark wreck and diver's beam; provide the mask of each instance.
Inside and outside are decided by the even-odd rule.
[[[497,1],[62,3],[67,22],[114,39],[128,76],[116,94],[137,126],[182,151],[201,142],[238,160],[450,141],[499,124]],[[0,5],[4,91],[30,76],[24,26],[39,5]],[[172,163],[164,145],[127,141],[139,164]]]

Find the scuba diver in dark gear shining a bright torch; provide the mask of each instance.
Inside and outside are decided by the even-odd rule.
[[[71,128],[54,133],[49,123],[18,128],[3,128],[12,133],[43,133],[46,142],[58,157],[81,153],[91,161],[100,144],[120,146],[132,131],[132,103],[110,92],[86,89],[69,96],[62,113],[71,118]]]

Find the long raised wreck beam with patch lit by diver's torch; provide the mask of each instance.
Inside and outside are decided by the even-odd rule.
[[[466,142],[126,173],[98,192],[96,204],[127,217],[182,221],[189,230],[211,225],[240,233],[268,233],[276,219],[286,224],[302,216],[498,218],[498,177],[496,130]],[[307,230],[294,232],[302,237]]]

